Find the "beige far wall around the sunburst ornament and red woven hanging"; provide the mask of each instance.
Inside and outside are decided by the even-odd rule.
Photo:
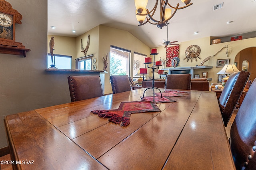
[[[201,53],[199,57],[202,59],[198,59],[197,61],[189,60],[187,62],[187,59],[184,60],[185,58],[185,50],[188,46],[190,45],[198,45],[201,48]],[[210,45],[210,37],[206,38],[201,38],[197,40],[192,40],[188,42],[181,42],[180,43],[180,63],[179,67],[195,67],[196,65],[200,65],[201,61],[205,59],[208,56],[216,54],[224,45],[228,45],[228,55],[229,57],[226,56],[226,48],[220,51],[217,55],[214,57],[211,57],[209,61],[206,61],[204,65],[212,66],[212,69],[197,69],[195,71],[195,74],[199,74],[200,77],[202,77],[202,71],[208,71],[208,78],[212,78],[212,81],[210,83],[216,83],[218,80],[218,71],[222,69],[222,67],[216,67],[217,59],[230,59],[230,63],[235,62],[235,57],[236,55],[242,50],[246,49],[248,47],[256,47],[256,38],[250,38],[250,39],[244,39],[244,40],[239,40],[239,41],[234,41],[234,42],[226,42],[226,43],[218,43],[218,44],[212,44]],[[163,46],[157,47],[158,49],[158,55],[156,55],[156,60],[159,60],[159,58],[166,58],[166,48]],[[254,58],[256,56],[254,55]]]

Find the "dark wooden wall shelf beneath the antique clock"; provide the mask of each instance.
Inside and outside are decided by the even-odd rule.
[[[0,45],[0,53],[3,54],[23,55],[26,57],[27,51],[31,51],[31,49]]]

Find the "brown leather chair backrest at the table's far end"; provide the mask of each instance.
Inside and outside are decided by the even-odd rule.
[[[191,74],[168,74],[165,82],[166,89],[191,89]]]

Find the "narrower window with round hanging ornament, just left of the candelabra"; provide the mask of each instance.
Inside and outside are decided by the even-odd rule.
[[[134,54],[133,54],[133,79],[134,79],[134,81],[137,81],[137,79],[142,76],[142,75],[137,74],[139,69],[146,68],[146,65],[144,64],[145,57],[147,57],[147,55],[145,55],[145,54],[140,54],[137,52],[134,52]]]

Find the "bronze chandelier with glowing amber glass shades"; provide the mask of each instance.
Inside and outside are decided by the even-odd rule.
[[[177,4],[176,7],[174,7],[168,3],[168,0],[160,0],[160,20],[156,20],[153,18],[153,16],[156,12],[158,0],[156,0],[156,4],[151,11],[146,9],[148,0],[135,0],[136,18],[140,23],[138,26],[142,26],[147,22],[149,22],[150,24],[156,25],[158,28],[162,29],[164,26],[166,26],[166,23],[174,16],[177,10],[184,9],[192,5],[193,3],[190,3],[190,1],[191,0],[181,0],[181,2],[184,2],[184,4],[186,4],[186,6],[179,8],[179,5],[180,5],[179,3]],[[166,8],[168,6],[170,8]],[[172,12],[171,8],[174,9],[174,12]],[[147,15],[148,17],[146,17]],[[146,21],[144,22],[145,18],[146,18]],[[150,20],[152,20],[155,23],[150,22]]]

